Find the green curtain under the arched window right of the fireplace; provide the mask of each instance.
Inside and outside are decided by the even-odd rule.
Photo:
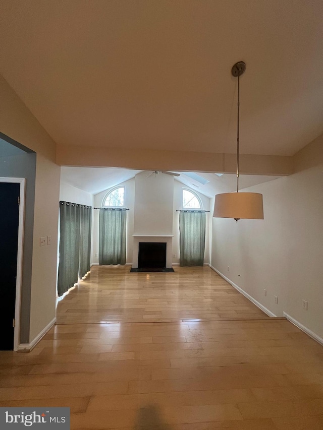
[[[203,266],[205,211],[180,211],[180,266]]]

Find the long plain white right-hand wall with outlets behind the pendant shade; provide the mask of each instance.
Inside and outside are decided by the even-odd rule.
[[[211,265],[275,315],[285,312],[323,338],[323,166],[244,191],[263,194],[264,220],[213,218]]]

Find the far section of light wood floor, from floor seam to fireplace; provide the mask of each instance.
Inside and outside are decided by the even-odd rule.
[[[129,266],[93,266],[59,302],[58,324],[180,322],[269,318],[209,267],[175,273],[130,273]]]

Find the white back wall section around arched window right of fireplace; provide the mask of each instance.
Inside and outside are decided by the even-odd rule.
[[[179,264],[180,262],[180,230],[179,230],[179,212],[177,210],[182,209],[182,190],[186,188],[187,190],[191,190],[196,193],[202,201],[203,209],[205,211],[210,210],[210,199],[204,196],[201,193],[198,193],[195,190],[192,190],[190,187],[187,187],[182,182],[178,180],[174,180],[174,213],[173,213],[173,263]],[[204,263],[209,262],[209,237],[210,237],[210,213],[206,213],[206,223],[205,223],[205,253],[204,253]]]

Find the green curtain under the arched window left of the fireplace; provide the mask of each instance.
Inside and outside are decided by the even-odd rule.
[[[99,264],[126,264],[126,209],[100,208]]]

